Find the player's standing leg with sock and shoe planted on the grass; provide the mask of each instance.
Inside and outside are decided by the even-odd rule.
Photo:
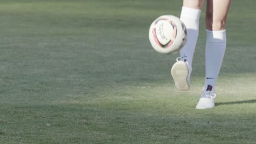
[[[205,89],[196,109],[214,107],[214,88],[226,49],[226,17],[231,0],[208,0],[206,10]]]

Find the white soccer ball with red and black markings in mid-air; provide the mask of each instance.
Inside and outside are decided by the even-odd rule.
[[[177,52],[187,42],[187,28],[178,17],[162,15],[152,22],[149,41],[160,53]]]

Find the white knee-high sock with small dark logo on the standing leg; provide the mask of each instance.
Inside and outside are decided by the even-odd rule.
[[[220,67],[226,50],[226,31],[206,30],[205,50],[205,91],[214,91]]]

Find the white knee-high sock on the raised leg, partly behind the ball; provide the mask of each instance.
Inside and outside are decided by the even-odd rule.
[[[179,55],[192,64],[195,46],[199,34],[199,18],[201,10],[182,7],[181,20],[187,28],[188,41],[179,51]]]

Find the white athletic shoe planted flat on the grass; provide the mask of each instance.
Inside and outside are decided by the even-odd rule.
[[[214,107],[214,98],[216,93],[211,91],[203,92],[200,100],[196,105],[196,109],[212,109]]]

